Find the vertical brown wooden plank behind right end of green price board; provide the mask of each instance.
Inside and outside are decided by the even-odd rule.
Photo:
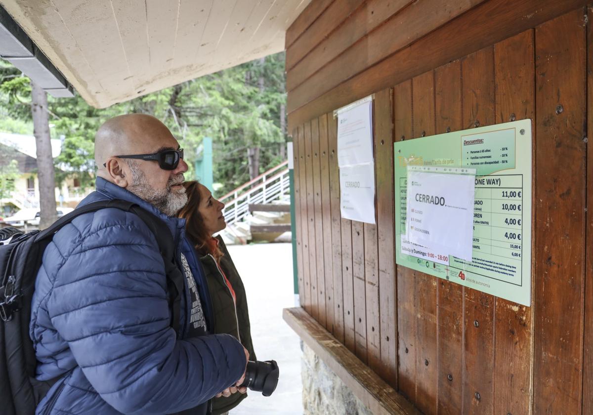
[[[514,119],[534,118],[533,36],[534,31],[527,30],[494,46],[497,124]],[[535,191],[535,183],[532,188]],[[535,229],[534,218],[535,215],[532,218],[532,229]],[[532,243],[535,247],[535,236]],[[532,257],[532,261],[534,259],[535,256]],[[535,269],[534,264],[532,269]],[[533,281],[531,286],[532,289],[535,288]],[[533,292],[531,298],[531,307],[496,298],[495,413],[528,414],[531,411]]]

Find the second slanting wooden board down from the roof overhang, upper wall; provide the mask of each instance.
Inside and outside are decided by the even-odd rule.
[[[326,36],[330,36],[330,33],[363,3],[364,0],[339,0],[332,2],[323,14],[291,46],[286,48],[286,70],[288,71],[295,66],[299,60],[304,58]]]

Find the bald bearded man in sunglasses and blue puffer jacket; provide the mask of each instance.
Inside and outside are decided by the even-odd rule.
[[[174,218],[187,202],[183,150],[159,120],[129,114],[97,131],[95,162],[97,189],[79,206],[134,202],[170,229],[185,277],[179,328],[144,221],[115,208],[78,216],[53,237],[36,280],[37,378],[55,381],[36,413],[208,414],[209,399],[243,382],[248,353],[232,336],[209,334],[208,288]]]

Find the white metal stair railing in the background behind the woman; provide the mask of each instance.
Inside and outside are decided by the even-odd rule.
[[[286,167],[287,164],[288,162],[279,164],[221,198],[221,202],[225,203],[222,212],[227,225],[242,221],[249,214],[249,205],[251,203],[273,202],[290,193],[288,168],[278,171],[279,168]],[[270,175],[270,172],[275,174]],[[247,190],[239,193],[243,189]],[[228,200],[230,199],[229,196],[234,197]]]

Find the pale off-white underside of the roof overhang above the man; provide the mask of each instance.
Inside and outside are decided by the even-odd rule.
[[[31,56],[20,60],[37,68],[46,56],[58,69],[56,79],[63,75],[89,104],[104,108],[282,51],[286,29],[310,1],[0,0],[0,4],[43,52],[36,55],[29,48]],[[27,51],[26,42],[21,49]],[[40,71],[47,75],[50,69]]]

